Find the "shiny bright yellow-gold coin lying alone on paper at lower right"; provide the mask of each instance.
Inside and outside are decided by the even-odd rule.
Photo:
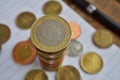
[[[95,52],[88,52],[81,57],[81,68],[90,74],[99,72],[103,67],[102,58]]]

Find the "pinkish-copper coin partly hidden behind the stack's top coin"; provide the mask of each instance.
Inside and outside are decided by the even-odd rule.
[[[77,24],[76,22],[73,22],[73,21],[69,22],[69,25],[70,25],[71,30],[72,30],[72,37],[71,37],[71,39],[75,40],[81,34],[80,26],[79,26],[79,24]]]

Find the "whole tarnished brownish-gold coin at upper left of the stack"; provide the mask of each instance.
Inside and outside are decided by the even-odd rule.
[[[35,20],[36,17],[33,13],[22,12],[16,18],[16,25],[21,29],[29,29]]]

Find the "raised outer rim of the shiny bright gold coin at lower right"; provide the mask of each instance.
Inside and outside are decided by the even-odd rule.
[[[101,68],[99,69],[99,70],[97,70],[97,71],[95,71],[95,72],[91,72],[91,71],[89,71],[87,68],[85,68],[84,67],[84,58],[85,58],[85,56],[88,56],[88,54],[94,54],[94,55],[96,55],[96,56],[98,56],[99,57],[99,59],[100,59],[100,61],[101,61]],[[89,73],[89,74],[95,74],[95,73],[98,73],[98,72],[100,72],[100,70],[103,68],[103,59],[102,59],[102,57],[98,54],[98,53],[96,53],[96,52],[93,52],[93,51],[91,51],[91,52],[87,52],[87,53],[85,53],[85,54],[83,54],[83,56],[81,57],[81,59],[80,59],[80,67],[82,68],[82,70],[83,71],[85,71],[86,73]]]

